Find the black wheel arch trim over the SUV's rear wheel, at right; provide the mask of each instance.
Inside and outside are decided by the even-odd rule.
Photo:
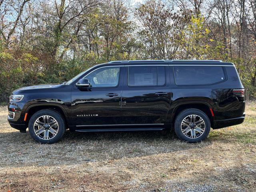
[[[212,109],[212,106],[208,102],[200,102],[200,101],[199,102],[182,102],[180,104],[177,104],[172,111],[170,122],[173,124],[176,119],[176,116],[178,116],[178,114],[182,110],[185,110],[188,108],[196,108],[204,112],[210,119],[211,127],[214,126],[214,123],[213,123],[214,116],[212,116],[212,113],[210,110]]]

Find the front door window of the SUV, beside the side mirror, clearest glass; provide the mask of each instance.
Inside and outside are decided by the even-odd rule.
[[[116,87],[119,82],[120,67],[97,69],[84,79],[88,79],[91,87]]]

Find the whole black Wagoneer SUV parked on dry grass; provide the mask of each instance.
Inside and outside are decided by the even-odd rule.
[[[78,132],[169,130],[188,142],[245,118],[234,64],[137,60],[96,65],[61,84],[14,90],[8,121],[40,143]]]

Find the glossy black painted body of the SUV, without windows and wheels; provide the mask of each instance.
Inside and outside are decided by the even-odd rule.
[[[164,86],[128,86],[128,66],[160,65],[165,68]],[[222,66],[223,82],[212,85],[178,86],[174,80],[175,65]],[[76,83],[97,68],[119,66],[118,86],[108,88],[78,88]],[[203,110],[214,129],[240,124],[244,121],[245,102],[233,89],[243,89],[234,64],[215,61],[129,61],[110,62],[90,68],[71,84],[29,86],[14,90],[24,95],[20,102],[10,102],[8,110],[15,109],[10,125],[26,132],[30,117],[37,110],[54,108],[65,117],[71,131],[98,126],[122,129],[127,127],[171,128],[175,117],[185,108]],[[165,93],[161,95],[161,92]],[[160,93],[160,94],[159,94]],[[106,94],[117,94],[106,96]],[[212,109],[214,115],[211,114]],[[28,113],[26,121],[25,114]]]

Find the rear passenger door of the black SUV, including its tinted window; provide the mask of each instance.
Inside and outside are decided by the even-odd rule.
[[[167,65],[126,66],[122,91],[123,124],[163,124],[171,103]]]

